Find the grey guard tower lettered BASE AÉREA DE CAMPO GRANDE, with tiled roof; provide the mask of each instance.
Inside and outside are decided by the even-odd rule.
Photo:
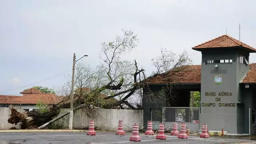
[[[228,35],[192,49],[202,53],[200,125],[206,123],[214,131],[223,127],[232,134],[248,133],[243,124],[248,109],[240,83],[249,71],[249,55],[256,49]]]

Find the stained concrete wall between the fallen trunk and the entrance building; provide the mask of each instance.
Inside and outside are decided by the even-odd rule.
[[[69,109],[63,109],[61,113],[69,111]],[[74,111],[73,127],[86,127],[89,125],[90,120],[94,120],[99,128],[104,130],[117,130],[118,121],[124,122],[124,130],[132,130],[132,125],[135,123],[140,128],[143,127],[143,111],[142,110],[127,110],[127,109],[94,109],[95,114],[93,117],[89,117],[84,109]],[[60,115],[61,115],[60,113]],[[58,120],[56,123],[61,124],[64,128],[68,128],[69,115]],[[56,124],[55,123],[55,124]],[[127,126],[126,126],[127,125]]]

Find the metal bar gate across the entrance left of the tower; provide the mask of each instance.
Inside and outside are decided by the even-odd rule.
[[[178,123],[178,127],[182,123],[191,131],[200,129],[200,108],[199,107],[162,107],[162,109],[151,110],[151,121],[153,129],[158,129],[160,123],[168,128],[174,122]]]

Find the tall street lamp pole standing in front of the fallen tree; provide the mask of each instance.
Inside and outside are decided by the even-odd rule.
[[[84,56],[88,56],[88,55],[85,54]],[[82,56],[81,58],[83,58],[84,56]],[[78,60],[80,60],[81,58],[79,58]],[[74,75],[75,75],[75,64],[78,60],[76,60],[76,53],[74,53],[74,56],[73,56],[73,70],[72,70],[71,97],[70,97],[69,130],[72,130],[72,128],[73,128]]]

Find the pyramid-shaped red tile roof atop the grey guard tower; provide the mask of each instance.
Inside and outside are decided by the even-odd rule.
[[[195,47],[192,47],[194,50],[200,51],[200,49],[204,48],[215,48],[215,47],[244,47],[245,49],[249,49],[251,51],[256,52],[256,49],[230,37],[228,35],[222,35]]]

